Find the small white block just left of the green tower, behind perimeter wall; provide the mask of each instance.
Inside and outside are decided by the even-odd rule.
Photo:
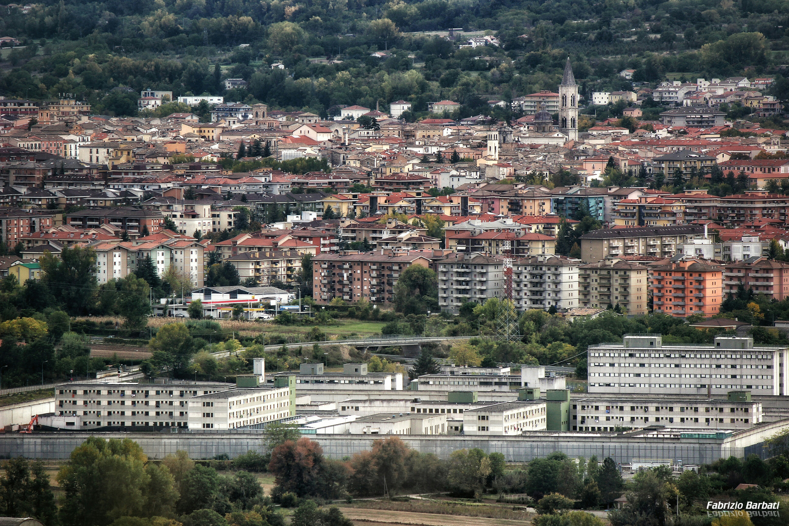
[[[522,435],[523,431],[545,431],[547,423],[545,401],[502,402],[464,412],[463,434]]]

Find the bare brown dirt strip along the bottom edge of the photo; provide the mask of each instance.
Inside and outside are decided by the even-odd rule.
[[[409,526],[525,526],[528,520],[490,519],[488,517],[463,517],[462,515],[438,515],[436,513],[413,513],[389,511],[387,509],[359,509],[343,507],[342,514],[359,526],[408,524]]]

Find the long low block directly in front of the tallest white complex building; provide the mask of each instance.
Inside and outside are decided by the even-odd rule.
[[[624,431],[659,425],[682,429],[741,430],[762,422],[761,402],[750,392],[729,391],[727,397],[689,400],[686,397],[627,397],[611,401],[589,395],[573,401],[573,431]]]

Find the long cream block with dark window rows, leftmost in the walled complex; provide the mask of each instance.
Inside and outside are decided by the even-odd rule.
[[[189,427],[189,399],[230,390],[231,383],[85,383],[55,387],[55,416],[62,427],[92,430],[99,427]],[[61,427],[61,426],[58,426]]]

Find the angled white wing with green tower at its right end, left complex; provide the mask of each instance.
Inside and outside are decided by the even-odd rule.
[[[189,399],[189,429],[238,429],[296,414],[295,376],[278,376],[273,386],[237,388]]]

